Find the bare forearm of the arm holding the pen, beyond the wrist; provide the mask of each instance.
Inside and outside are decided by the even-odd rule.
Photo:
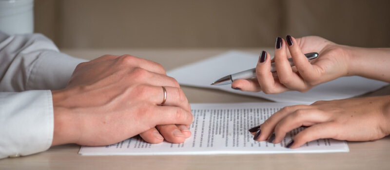
[[[349,57],[348,74],[390,83],[390,48],[342,46]]]

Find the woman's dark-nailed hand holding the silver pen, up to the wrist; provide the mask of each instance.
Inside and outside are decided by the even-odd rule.
[[[262,52],[256,66],[257,79],[235,80],[232,88],[243,91],[263,91],[276,94],[289,90],[306,92],[312,87],[342,76],[348,76],[349,55],[344,46],[337,45],[318,36],[295,39],[287,36],[276,40],[275,62],[277,74],[271,72],[271,56]],[[309,63],[304,53],[318,52],[319,57]],[[295,67],[291,67],[291,58]]]

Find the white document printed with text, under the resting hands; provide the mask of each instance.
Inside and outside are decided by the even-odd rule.
[[[168,155],[168,154],[259,154],[259,153],[329,153],[349,152],[345,141],[318,139],[298,149],[287,149],[286,144],[304,128],[287,133],[281,143],[253,140],[248,129],[264,122],[274,112],[292,103],[229,103],[191,104],[195,121],[190,127],[192,136],[184,143],[160,144],[144,142],[139,136],[114,145],[82,146],[82,155]],[[298,104],[298,103],[294,103]]]

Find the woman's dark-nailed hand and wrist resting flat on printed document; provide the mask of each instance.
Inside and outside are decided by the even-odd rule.
[[[269,139],[269,142],[279,143],[291,130],[309,126],[287,145],[288,148],[298,148],[321,138],[349,141],[380,139],[390,134],[389,122],[390,96],[319,101],[311,105],[284,107],[261,124],[260,130],[252,130],[252,134],[254,140]]]

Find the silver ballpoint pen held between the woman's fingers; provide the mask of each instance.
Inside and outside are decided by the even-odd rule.
[[[318,53],[317,52],[310,52],[310,53],[306,53],[305,56],[308,58],[309,62],[311,62],[312,60],[314,60],[318,57]],[[288,60],[289,60],[290,66],[291,67],[294,66],[294,62],[292,61],[292,58],[289,58]],[[275,72],[275,71],[276,71],[275,63],[271,63],[271,72]],[[217,81],[215,81],[214,83],[212,83],[211,85],[229,85],[229,84],[232,84],[232,82],[234,80],[237,80],[237,79],[250,79],[250,78],[254,78],[254,77],[256,77],[256,68],[248,69],[245,71],[237,72],[237,73],[222,77],[222,78],[218,79]]]

